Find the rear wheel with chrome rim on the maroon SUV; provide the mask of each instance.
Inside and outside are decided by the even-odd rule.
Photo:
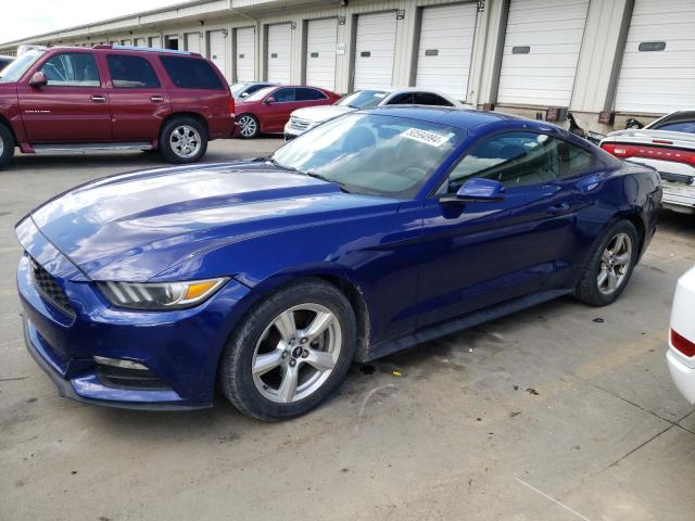
[[[160,152],[169,163],[195,163],[206,151],[207,131],[198,119],[175,117],[162,128]]]

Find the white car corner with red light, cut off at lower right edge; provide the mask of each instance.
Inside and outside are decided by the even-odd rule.
[[[675,386],[695,405],[695,267],[675,287],[666,359]]]

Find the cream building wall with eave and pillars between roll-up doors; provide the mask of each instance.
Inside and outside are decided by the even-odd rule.
[[[467,0],[463,0],[467,1]],[[477,1],[478,15],[467,102],[482,107],[496,101],[504,46],[506,16],[510,2],[554,2],[557,0],[485,0]],[[338,17],[338,43],[344,53],[337,55],[336,90],[348,92],[353,85],[354,38],[357,15],[376,12],[401,12],[396,20],[396,48],[393,63],[393,86],[413,85],[415,80],[418,46],[418,16],[421,8],[435,4],[462,3],[453,0],[349,0],[345,7],[339,0],[198,0],[179,5],[140,13],[89,26],[27,38],[0,46],[0,54],[13,53],[20,43],[91,46],[100,42],[159,36],[178,35],[179,48],[184,35],[201,34],[201,49],[208,55],[210,31],[223,30],[226,36],[225,69],[235,81],[235,29],[255,27],[255,77],[265,79],[267,71],[267,30],[278,23],[291,23],[291,81],[301,84],[306,77],[306,22],[313,18]],[[591,0],[584,37],[569,109],[580,125],[602,132],[614,128],[598,123],[602,111],[612,106],[616,81],[622,59],[627,26],[634,0]],[[667,8],[665,8],[667,9]],[[148,40],[149,41],[149,40]],[[545,114],[543,105],[505,105],[497,110],[535,117]],[[615,127],[622,128],[629,114],[619,114]],[[648,118],[643,118],[648,120]]]

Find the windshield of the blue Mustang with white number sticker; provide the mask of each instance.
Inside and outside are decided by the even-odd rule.
[[[271,161],[349,192],[412,198],[464,138],[444,125],[353,113],[301,135]]]

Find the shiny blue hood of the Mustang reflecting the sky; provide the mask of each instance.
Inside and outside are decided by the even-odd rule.
[[[91,279],[141,282],[220,245],[350,218],[386,201],[256,161],[97,180],[29,218]]]

